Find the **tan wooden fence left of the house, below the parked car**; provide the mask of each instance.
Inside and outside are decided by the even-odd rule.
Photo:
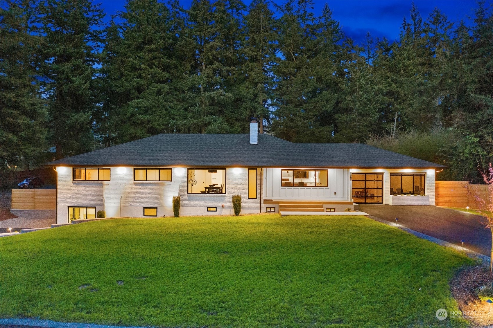
[[[12,189],[12,209],[55,209],[55,189]]]

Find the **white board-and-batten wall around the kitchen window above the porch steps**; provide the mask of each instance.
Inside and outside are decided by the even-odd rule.
[[[325,168],[320,168],[325,169]],[[350,201],[349,169],[327,168],[327,187],[282,187],[281,168],[264,169],[264,197],[268,199]],[[335,193],[335,194],[334,194]]]

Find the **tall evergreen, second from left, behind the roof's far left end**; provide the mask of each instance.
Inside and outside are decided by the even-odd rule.
[[[37,2],[40,72],[56,157],[94,149],[93,112],[103,10],[89,0]]]

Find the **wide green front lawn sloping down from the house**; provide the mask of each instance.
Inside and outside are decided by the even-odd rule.
[[[166,327],[465,327],[435,312],[472,264],[363,216],[105,220],[0,256],[2,318]]]

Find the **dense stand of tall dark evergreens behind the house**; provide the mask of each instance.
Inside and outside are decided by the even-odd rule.
[[[261,132],[366,142],[479,182],[493,161],[493,17],[416,6],[398,40],[345,36],[311,1],[8,1],[1,10],[1,168],[157,133]],[[335,154],[336,155],[336,154]]]

